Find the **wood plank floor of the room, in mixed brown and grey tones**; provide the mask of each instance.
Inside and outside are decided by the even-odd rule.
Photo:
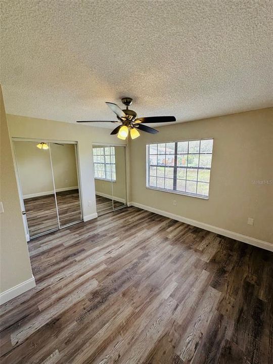
[[[1,363],[272,364],[273,253],[138,208],[32,240]]]

